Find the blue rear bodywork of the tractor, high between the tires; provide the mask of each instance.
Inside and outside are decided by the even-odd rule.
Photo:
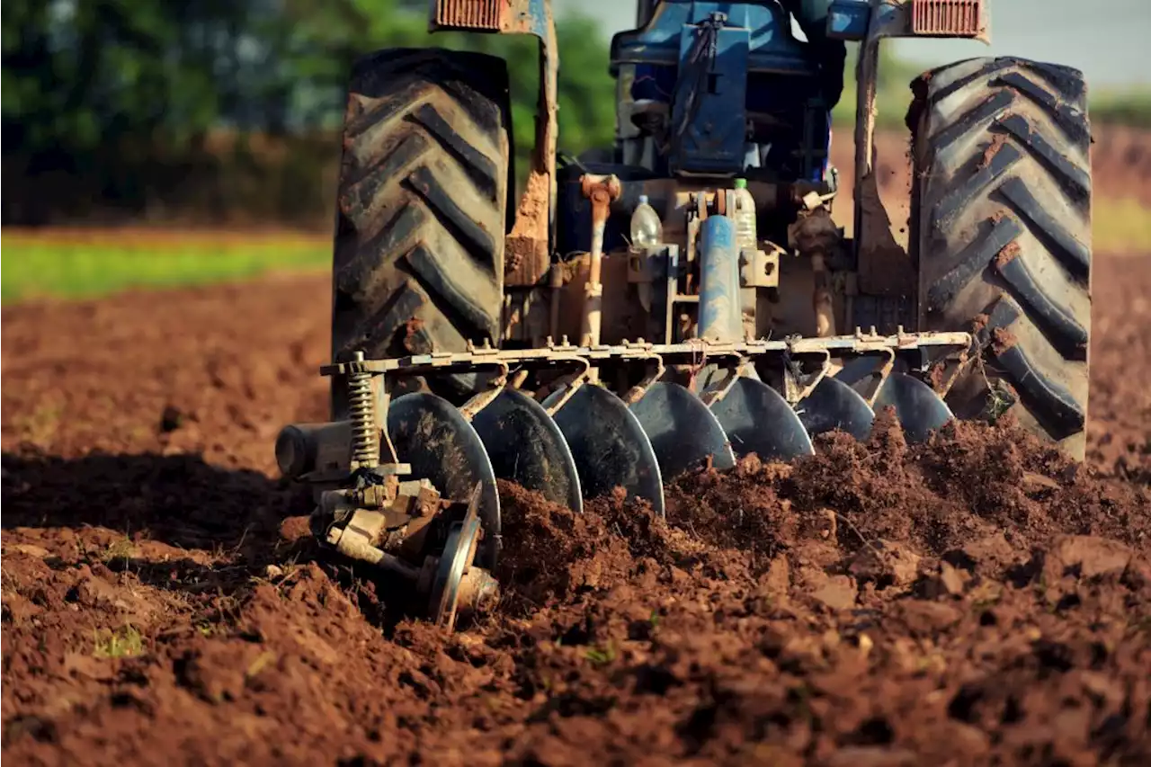
[[[622,109],[630,102],[670,111],[673,141],[657,173],[787,173],[793,164],[785,151],[796,146],[764,157],[762,142],[748,141],[748,123],[754,128],[756,116],[773,115],[794,138],[811,126],[794,172],[813,181],[822,176],[830,126],[817,88],[820,61],[793,37],[779,6],[662,2],[642,29],[615,37],[611,70],[631,81]]]

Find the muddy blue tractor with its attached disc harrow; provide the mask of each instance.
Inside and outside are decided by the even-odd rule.
[[[908,245],[876,179],[886,38],[989,39],[982,0],[641,0],[605,62],[616,141],[557,151],[547,0],[434,0],[430,29],[539,40],[524,191],[497,56],[353,68],[331,420],[275,451],[317,534],[448,629],[500,599],[500,483],[582,510],[741,456],[1014,416],[1082,460],[1090,129],[1081,73],[961,61],[912,83]],[[793,30],[795,22],[802,35]],[[806,39],[805,39],[806,38]],[[856,63],[851,236],[831,108]]]

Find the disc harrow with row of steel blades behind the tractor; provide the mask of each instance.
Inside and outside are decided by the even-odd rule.
[[[910,441],[925,440],[952,419],[943,397],[971,344],[967,333],[900,331],[357,352],[321,369],[355,395],[349,419],[285,427],[276,457],[284,474],[315,488],[314,521],[330,545],[414,583],[426,612],[450,626],[498,598],[497,480],[574,511],[623,488],[663,515],[664,483],[684,472],[726,471],[752,454],[811,455],[813,438],[831,431],[863,440],[884,408]],[[483,381],[459,405],[427,392],[390,394],[401,379],[458,373]]]

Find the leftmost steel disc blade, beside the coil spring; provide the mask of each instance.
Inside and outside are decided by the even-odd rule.
[[[500,496],[496,476],[480,435],[447,400],[417,392],[388,407],[388,435],[401,463],[412,465],[412,479],[427,479],[444,499],[464,501],[482,483],[479,517],[483,541],[477,561],[491,569],[500,549]]]

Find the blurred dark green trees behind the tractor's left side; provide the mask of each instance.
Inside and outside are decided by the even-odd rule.
[[[55,203],[29,200],[14,180],[54,179],[52,189],[73,181],[73,196],[135,208],[167,183],[157,179],[159,166],[177,177],[181,164],[201,158],[220,131],[261,138],[331,132],[343,114],[352,62],[386,47],[442,46],[505,58],[518,153],[531,150],[535,39],[432,36],[422,0],[5,0],[3,6],[3,221],[35,222],[59,213]],[[610,143],[607,39],[580,16],[561,20],[558,37],[563,144],[580,151]]]

